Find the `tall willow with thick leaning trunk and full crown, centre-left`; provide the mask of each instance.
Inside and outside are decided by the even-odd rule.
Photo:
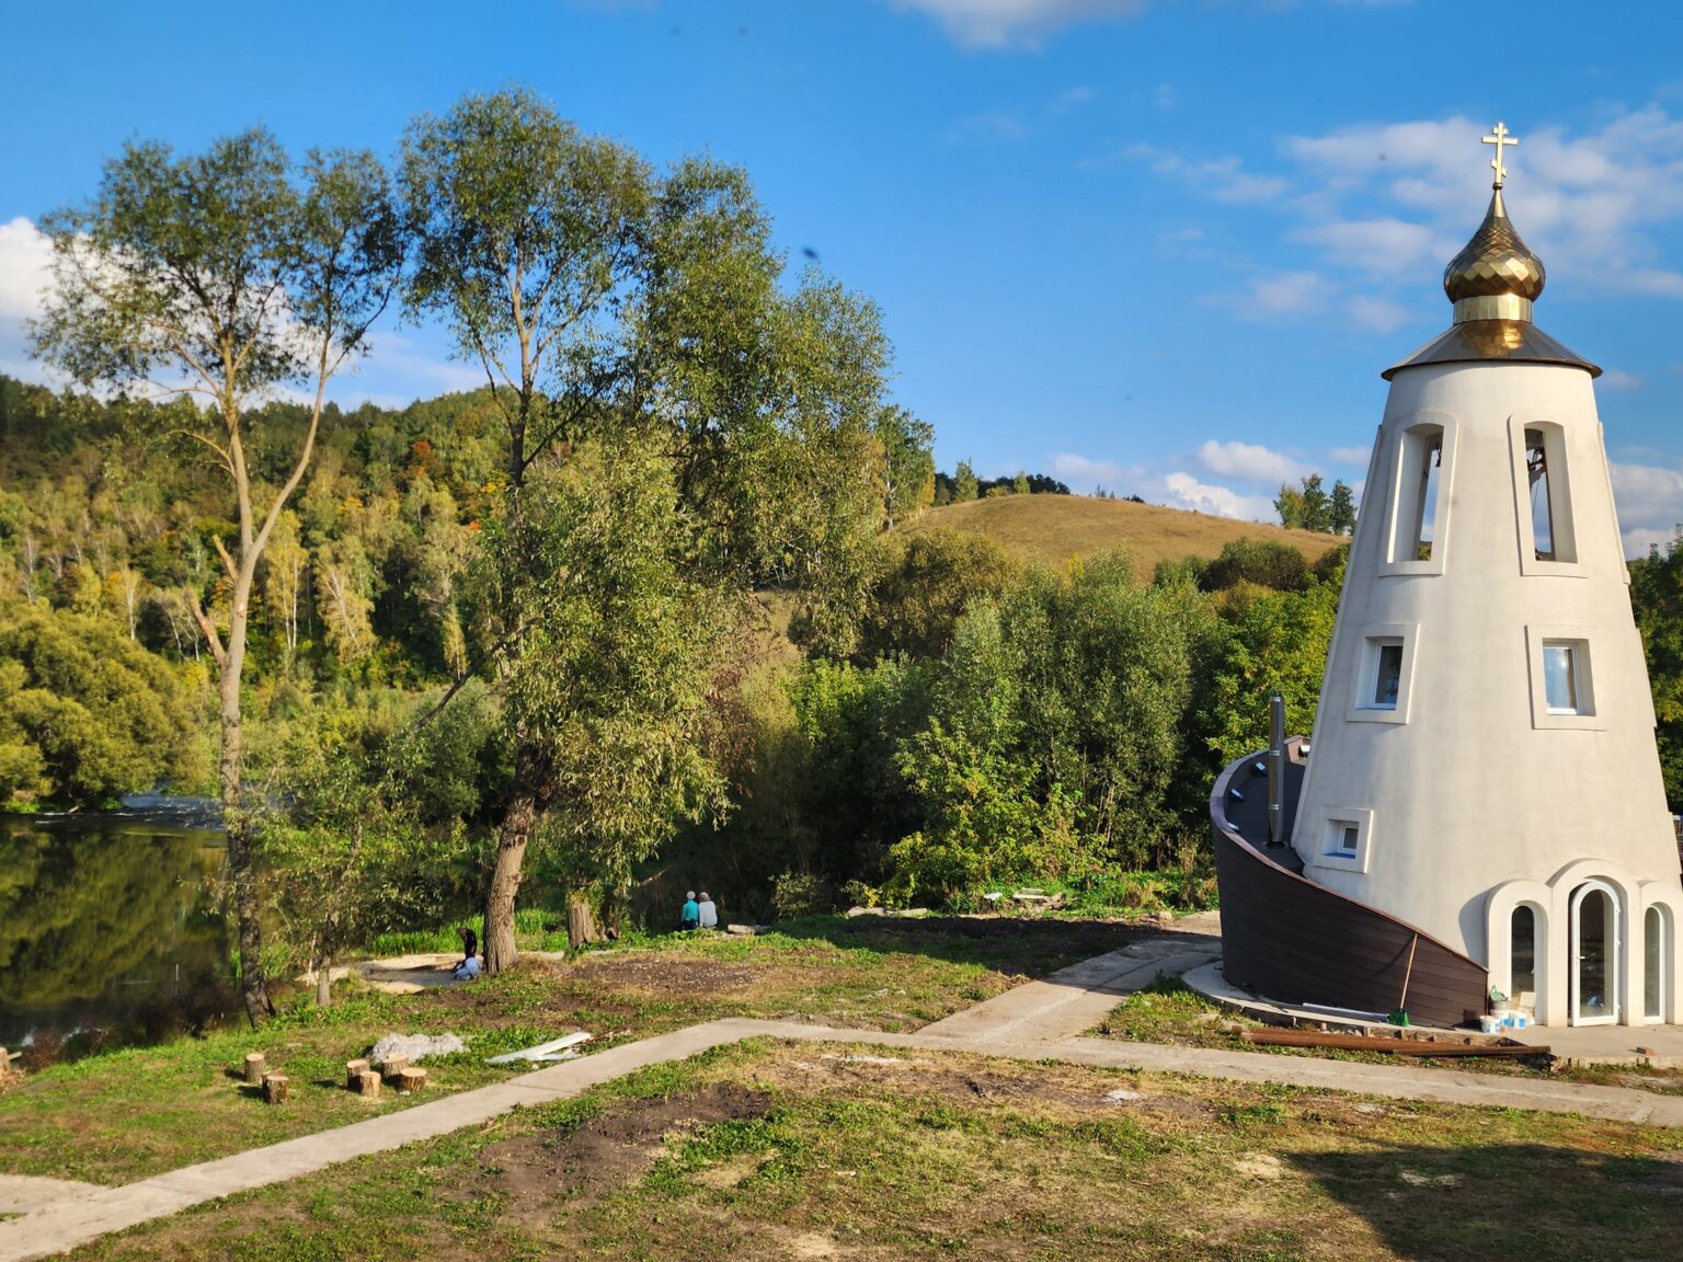
[[[754,587],[796,589],[801,633],[850,643],[889,353],[870,303],[816,276],[779,288],[742,172],[656,173],[522,89],[416,119],[404,194],[409,308],[448,323],[507,431],[473,634],[513,750],[485,900],[496,973],[540,825],[606,875],[715,796],[705,695]]]

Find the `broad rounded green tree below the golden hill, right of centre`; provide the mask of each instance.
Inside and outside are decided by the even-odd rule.
[[[937,673],[929,729],[902,745],[929,814],[890,860],[937,855],[959,872],[954,848],[1018,846],[1047,875],[1074,875],[1099,860],[1183,858],[1198,833],[1187,717],[1213,634],[1195,587],[1138,587],[1121,554],[1030,570],[973,607]],[[1045,811],[1042,831],[1018,821],[1025,803]]]

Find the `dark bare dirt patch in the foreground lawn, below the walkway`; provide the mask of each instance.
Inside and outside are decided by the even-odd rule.
[[[547,1225],[562,1201],[589,1208],[638,1183],[665,1154],[668,1139],[712,1122],[764,1117],[769,1109],[767,1092],[715,1082],[695,1095],[626,1100],[567,1131],[493,1144],[483,1164],[503,1198],[505,1218]]]

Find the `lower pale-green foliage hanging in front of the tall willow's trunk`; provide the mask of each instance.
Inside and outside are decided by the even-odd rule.
[[[518,823],[530,836],[542,813],[579,890],[619,883],[678,825],[724,806],[714,688],[737,609],[687,572],[677,486],[653,444],[604,439],[545,469],[525,522],[518,550],[512,533],[491,550],[493,565],[537,575],[515,587],[523,629],[502,660],[515,786],[537,787]]]

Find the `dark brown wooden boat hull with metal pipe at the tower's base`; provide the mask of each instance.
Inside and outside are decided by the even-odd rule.
[[[1294,739],[1287,767],[1287,835],[1303,781],[1298,745]],[[1291,870],[1291,846],[1266,845],[1267,777],[1257,771],[1261,757],[1234,762],[1210,794],[1227,979],[1293,1005],[1377,1013],[1402,1008],[1417,1025],[1478,1020],[1489,993],[1483,964],[1298,875]]]

